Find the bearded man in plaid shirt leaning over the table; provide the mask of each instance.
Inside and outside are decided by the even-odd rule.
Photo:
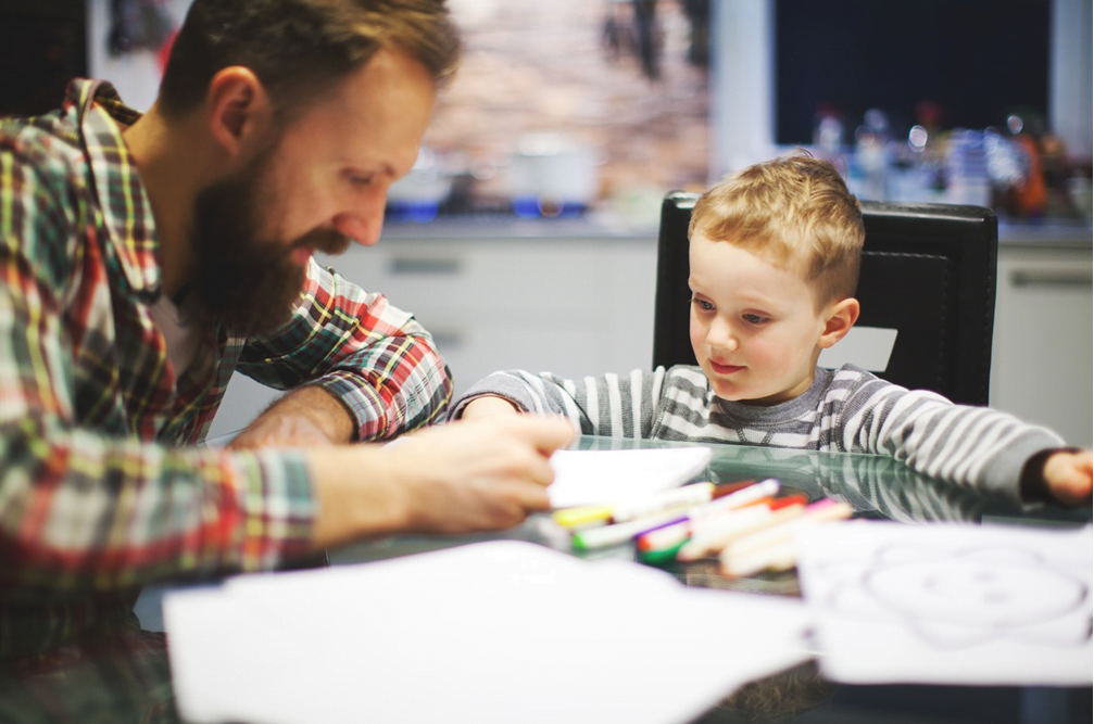
[[[458,47],[443,0],[195,0],[148,113],[75,80],[0,121],[0,609],[548,507],[560,420],[348,444],[451,395],[312,255],[376,243]],[[203,446],[236,370],[292,392]]]

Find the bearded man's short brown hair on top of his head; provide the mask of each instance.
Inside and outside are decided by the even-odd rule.
[[[194,0],[159,105],[179,118],[201,105],[217,72],[243,66],[289,118],[381,48],[407,54],[443,85],[459,58],[445,0]]]

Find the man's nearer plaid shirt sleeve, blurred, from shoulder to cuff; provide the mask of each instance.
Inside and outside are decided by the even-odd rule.
[[[302,453],[173,447],[86,422],[96,411],[78,399],[73,347],[109,319],[68,305],[92,253],[75,240],[92,221],[65,173],[0,147],[0,599],[268,569],[305,552],[315,501]],[[118,387],[103,374],[104,389]]]

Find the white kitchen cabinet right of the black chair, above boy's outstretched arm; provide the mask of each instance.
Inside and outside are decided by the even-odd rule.
[[[1094,420],[1091,247],[1001,244],[989,404],[1089,446]]]

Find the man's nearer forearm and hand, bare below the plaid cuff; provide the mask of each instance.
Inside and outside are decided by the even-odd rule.
[[[315,451],[315,542],[512,527],[549,507],[548,458],[573,436],[562,418],[527,414],[431,428],[386,446]]]

